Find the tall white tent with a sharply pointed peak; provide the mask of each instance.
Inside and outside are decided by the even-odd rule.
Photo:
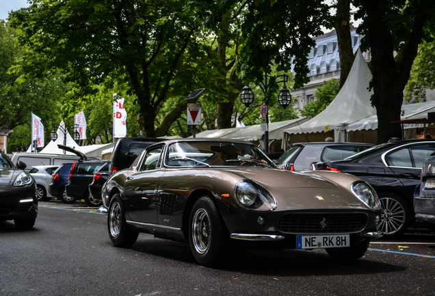
[[[346,82],[334,101],[324,111],[300,127],[285,130],[285,142],[291,143],[292,134],[324,133],[328,130],[334,132],[336,142],[345,142],[347,125],[376,113],[370,102],[372,92],[367,90],[370,80],[371,72],[363,54],[358,50]],[[310,135],[307,136],[310,138]],[[321,134],[321,140],[324,140],[325,136],[328,135]],[[313,141],[313,139],[310,140]]]

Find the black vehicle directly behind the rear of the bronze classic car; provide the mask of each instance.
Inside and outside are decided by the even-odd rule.
[[[161,138],[120,138],[111,153],[109,175],[127,169],[146,147],[159,142]]]

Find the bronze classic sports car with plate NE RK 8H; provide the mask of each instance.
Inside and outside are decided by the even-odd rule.
[[[233,243],[326,248],[356,260],[379,238],[378,196],[353,175],[280,170],[255,145],[178,139],[148,147],[102,190],[111,242],[130,247],[139,232],[189,242],[212,264]]]

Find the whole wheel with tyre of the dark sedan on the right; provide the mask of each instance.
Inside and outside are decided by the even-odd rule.
[[[381,221],[378,230],[384,232],[384,238],[401,236],[411,223],[408,204],[393,193],[381,193]]]

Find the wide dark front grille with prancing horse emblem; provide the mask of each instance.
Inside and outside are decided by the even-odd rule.
[[[369,217],[362,212],[298,212],[278,219],[278,230],[288,234],[353,233],[364,230]]]

